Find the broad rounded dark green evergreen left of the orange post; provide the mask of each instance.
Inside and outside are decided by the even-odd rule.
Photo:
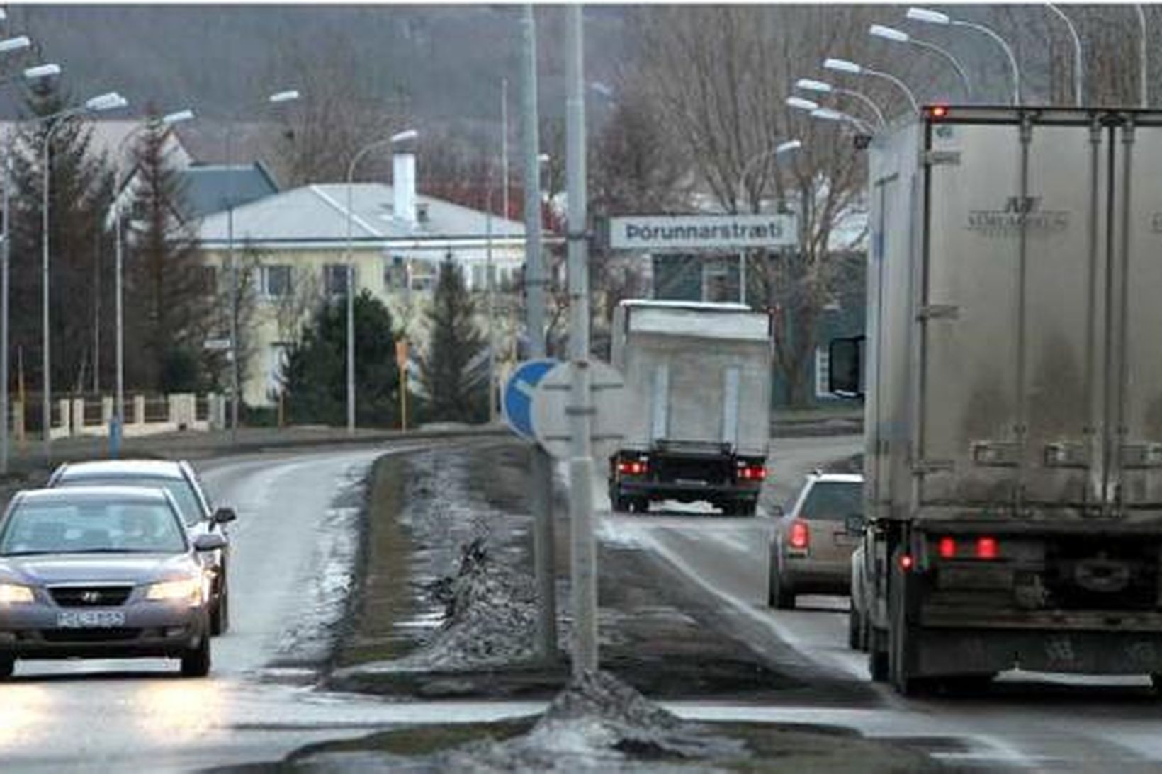
[[[320,307],[282,371],[287,417],[296,424],[344,425],[347,417],[347,311],[339,298]],[[356,422],[399,424],[400,372],[392,314],[370,292],[354,299]]]

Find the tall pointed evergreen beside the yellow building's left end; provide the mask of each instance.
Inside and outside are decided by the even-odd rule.
[[[131,205],[122,212],[127,381],[163,393],[200,386],[214,301],[193,228],[179,217],[185,191],[168,159],[168,132],[157,115],[148,119],[125,175]]]

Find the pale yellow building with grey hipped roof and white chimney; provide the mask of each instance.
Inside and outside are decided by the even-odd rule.
[[[250,267],[253,278],[252,322],[239,331],[252,352],[242,374],[248,404],[277,400],[286,347],[322,300],[346,292],[349,255],[356,293],[367,289],[387,304],[396,335],[407,336],[413,351],[428,339],[423,310],[447,255],[479,293],[480,329],[487,331],[483,291],[492,264],[497,359],[509,359],[521,327],[512,288],[524,265],[524,224],[417,195],[410,153],[396,155],[394,173],[396,186],[308,185],[201,221],[199,239],[216,287],[230,286],[231,244],[238,265]]]

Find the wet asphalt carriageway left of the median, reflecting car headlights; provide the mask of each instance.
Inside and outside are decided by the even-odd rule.
[[[370,702],[315,694],[295,685],[294,669],[268,665],[310,650],[314,611],[303,600],[328,583],[321,546],[333,544],[329,522],[343,516],[333,506],[350,506],[352,483],[380,453],[202,465],[214,501],[238,513],[232,628],[214,640],[210,676],[182,680],[165,659],[17,662],[0,685],[0,771],[192,771],[365,733],[375,717]]]

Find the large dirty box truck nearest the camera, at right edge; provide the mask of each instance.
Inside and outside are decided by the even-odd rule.
[[[873,678],[1157,686],[1162,112],[928,107],[868,182],[866,358],[831,364],[866,401]]]

